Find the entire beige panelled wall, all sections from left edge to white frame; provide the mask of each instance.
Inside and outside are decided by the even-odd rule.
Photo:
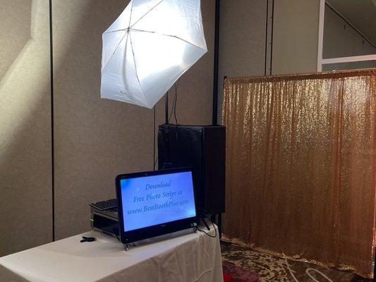
[[[318,0],[274,2],[273,73],[314,71]],[[117,174],[152,169],[154,111],[99,98],[101,35],[127,3],[53,0],[56,238],[89,228],[87,205],[114,197]],[[202,1],[209,53],[178,84],[181,124],[211,121],[214,4]],[[224,75],[265,72],[266,6],[222,1],[221,89]],[[51,240],[48,9],[42,0],[0,4],[0,255]],[[163,123],[163,100],[155,111]]]

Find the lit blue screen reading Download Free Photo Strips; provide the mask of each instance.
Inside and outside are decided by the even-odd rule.
[[[124,231],[196,216],[192,173],[120,180]]]

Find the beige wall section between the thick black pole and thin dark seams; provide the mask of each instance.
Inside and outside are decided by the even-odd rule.
[[[224,76],[264,75],[267,0],[222,0],[219,25],[219,114]]]

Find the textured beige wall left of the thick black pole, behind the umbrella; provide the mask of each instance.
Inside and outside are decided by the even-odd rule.
[[[152,170],[164,102],[99,97],[102,32],[127,4],[0,2],[0,256],[89,230],[116,175]],[[212,121],[215,0],[202,18],[209,52],[178,82],[181,124]]]

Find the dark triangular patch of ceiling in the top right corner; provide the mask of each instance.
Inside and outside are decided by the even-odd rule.
[[[376,0],[326,0],[376,45]]]

